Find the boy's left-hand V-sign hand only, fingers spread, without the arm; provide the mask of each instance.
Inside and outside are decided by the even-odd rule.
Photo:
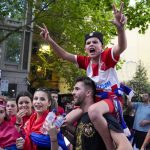
[[[50,39],[50,36],[49,36],[49,32],[48,32],[48,29],[46,27],[46,25],[43,23],[43,27],[40,27],[39,25],[36,25],[37,28],[40,29],[40,36],[45,40],[45,41],[48,41]]]

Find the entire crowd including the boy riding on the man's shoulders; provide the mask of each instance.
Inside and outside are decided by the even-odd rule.
[[[41,37],[62,59],[86,70],[78,77],[72,91],[69,111],[58,103],[58,92],[38,88],[31,95],[18,93],[16,99],[0,97],[0,150],[132,150],[150,148],[150,94],[143,102],[127,105],[132,114],[123,115],[123,95],[130,88],[119,83],[115,66],[126,49],[123,3],[120,10],[113,5],[118,43],[103,50],[103,35],[85,35],[88,56],[74,55],[61,48],[49,35],[47,27],[38,26]],[[131,117],[133,124],[128,119]],[[125,119],[124,119],[125,118]],[[127,124],[126,124],[126,122]],[[129,128],[128,128],[129,126]]]

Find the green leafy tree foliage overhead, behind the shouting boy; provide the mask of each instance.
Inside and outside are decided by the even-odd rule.
[[[104,34],[105,45],[116,35],[116,30],[109,20],[113,17],[112,4],[116,3],[119,7],[120,0],[2,0],[0,18],[21,18],[24,10],[22,8],[26,8],[23,2],[28,2],[33,8],[34,24],[45,23],[50,35],[68,52],[85,54],[85,33],[101,31]],[[131,6],[129,0],[124,0],[124,13],[128,17],[126,27],[138,27],[139,32],[144,33],[150,22],[150,3],[149,0],[135,2],[135,5]],[[38,29],[34,28],[33,31],[33,41],[40,47],[44,42],[39,38]],[[31,71],[33,66],[41,66],[43,70],[54,69],[70,86],[76,76],[83,74],[75,65],[59,59],[51,50],[50,53],[37,52],[34,55],[32,56],[36,57],[37,61],[32,61]]]

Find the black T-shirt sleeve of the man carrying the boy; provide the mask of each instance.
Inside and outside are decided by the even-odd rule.
[[[123,133],[122,126],[118,122],[118,120],[111,114],[104,114],[104,117],[108,123],[108,128],[117,133]]]

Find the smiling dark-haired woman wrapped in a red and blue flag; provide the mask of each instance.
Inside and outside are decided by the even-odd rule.
[[[31,115],[25,127],[25,140],[19,138],[16,141],[18,149],[24,150],[66,150],[62,134],[52,122],[47,121],[49,107],[51,106],[50,91],[45,88],[37,89],[33,96],[34,113]],[[50,119],[50,117],[49,117]],[[45,124],[44,124],[45,123]],[[43,126],[43,124],[45,126]],[[42,128],[46,129],[46,133]]]

